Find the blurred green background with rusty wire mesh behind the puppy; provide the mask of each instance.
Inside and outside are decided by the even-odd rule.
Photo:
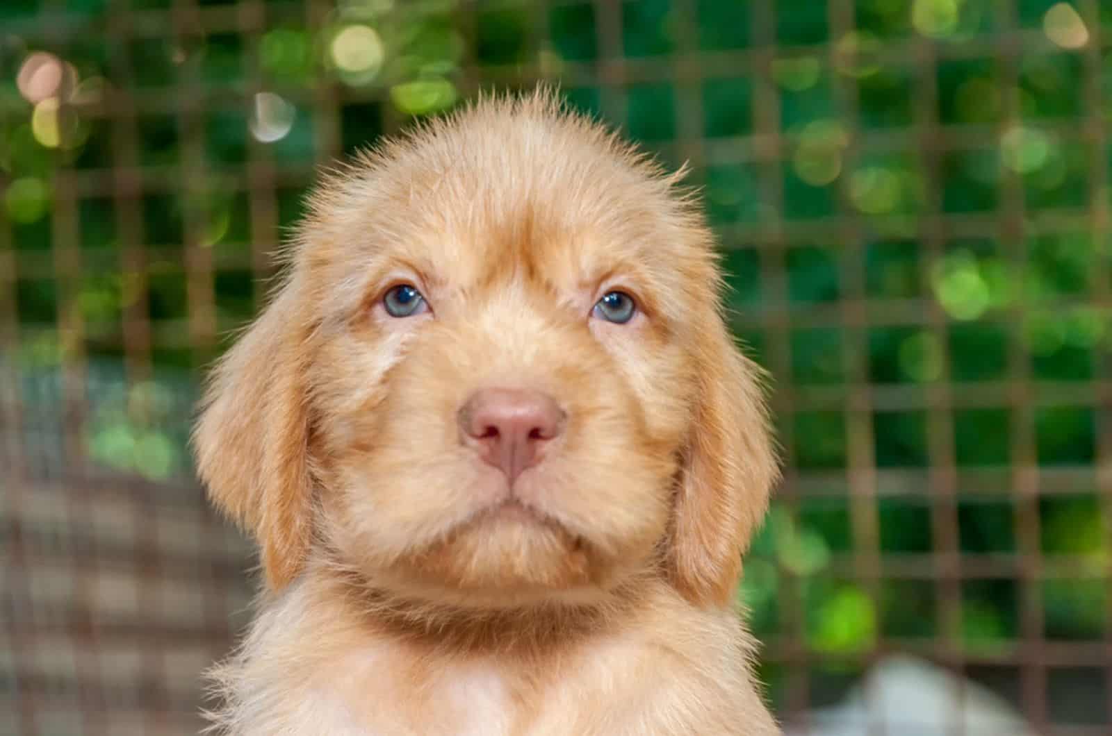
[[[1103,0],[0,1],[0,733],[196,732],[254,565],[202,369],[319,165],[538,79],[702,187],[791,733],[1112,733]]]

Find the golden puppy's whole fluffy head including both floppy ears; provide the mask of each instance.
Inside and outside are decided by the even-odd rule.
[[[272,587],[319,547],[461,605],[728,600],[775,461],[674,179],[546,93],[330,177],[196,435]]]

